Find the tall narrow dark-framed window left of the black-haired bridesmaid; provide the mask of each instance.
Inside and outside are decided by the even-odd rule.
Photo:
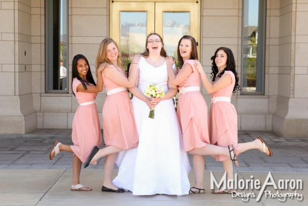
[[[46,92],[68,92],[68,0],[45,1]]]

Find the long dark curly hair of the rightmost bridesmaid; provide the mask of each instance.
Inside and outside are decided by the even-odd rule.
[[[215,58],[216,58],[217,52],[220,51],[220,50],[223,50],[227,54],[227,67],[224,69],[224,71],[222,71],[218,75],[218,77],[221,77],[225,73],[225,71],[233,72],[233,74],[235,76],[235,85],[234,85],[234,88],[233,88],[233,94],[235,94],[237,92],[237,90],[240,90],[240,85],[239,85],[238,73],[237,73],[236,66],[235,66],[234,55],[233,55],[233,52],[230,48],[219,47],[218,49],[216,49],[214,56],[211,57],[211,60],[212,60],[211,80],[212,80],[212,82],[215,81],[216,75],[217,75],[218,70],[219,70],[216,63],[215,63]]]

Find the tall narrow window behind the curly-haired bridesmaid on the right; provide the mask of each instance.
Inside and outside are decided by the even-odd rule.
[[[243,0],[241,94],[264,94],[266,0]]]

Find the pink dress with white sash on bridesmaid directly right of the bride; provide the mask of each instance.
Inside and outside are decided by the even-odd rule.
[[[200,73],[194,64],[194,60],[186,60],[185,64],[191,65],[193,73],[178,85],[180,94],[176,114],[183,134],[184,151],[187,152],[194,148],[205,147],[210,141],[207,105],[200,92]],[[178,70],[178,73],[180,72],[181,69]]]

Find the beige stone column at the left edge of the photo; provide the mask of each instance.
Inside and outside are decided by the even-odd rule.
[[[31,93],[31,0],[0,3],[0,133],[26,133],[36,128]]]

